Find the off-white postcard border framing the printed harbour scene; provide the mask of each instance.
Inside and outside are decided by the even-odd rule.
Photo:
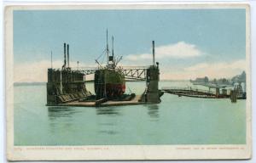
[[[5,94],[7,113],[7,158],[9,160],[213,160],[249,159],[252,152],[251,132],[251,55],[250,8],[248,4],[84,4],[84,5],[17,5],[5,8]],[[246,8],[247,53],[247,144],[244,145],[88,145],[88,146],[15,146],[14,145],[14,9],[148,9],[148,8]]]

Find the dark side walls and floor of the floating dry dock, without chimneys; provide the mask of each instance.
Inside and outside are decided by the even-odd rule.
[[[131,70],[132,72],[133,70]],[[136,70],[135,70],[136,71]],[[145,71],[146,88],[141,95],[126,95],[129,100],[120,99],[92,99],[83,98],[94,97],[86,89],[83,81],[84,73],[79,70],[48,70],[49,80],[47,82],[47,105],[49,106],[118,106],[135,104],[155,104],[160,103],[160,96],[163,94],[159,90],[159,68],[158,65],[150,66]],[[127,75],[127,74],[126,74]],[[64,77],[65,76],[65,77]],[[133,74],[134,76],[134,74]],[[79,78],[78,78],[79,77]],[[78,80],[79,79],[79,80]],[[133,97],[132,97],[133,95]]]

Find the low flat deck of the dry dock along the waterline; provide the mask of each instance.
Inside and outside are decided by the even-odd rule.
[[[143,95],[136,95],[129,101],[120,101],[120,100],[108,100],[101,104],[96,104],[96,101],[79,101],[75,100],[72,102],[67,102],[63,104],[48,104],[48,106],[75,106],[75,107],[106,107],[106,106],[125,106],[125,105],[137,105],[137,104],[148,104],[142,102],[141,98]]]

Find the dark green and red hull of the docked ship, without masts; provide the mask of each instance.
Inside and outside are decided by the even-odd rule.
[[[125,93],[125,76],[116,70],[96,70],[94,87],[96,98],[119,98]]]

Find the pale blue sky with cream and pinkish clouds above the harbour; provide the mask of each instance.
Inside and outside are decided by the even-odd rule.
[[[246,11],[236,9],[15,10],[15,82],[46,82],[50,67],[96,66],[114,37],[120,65],[151,65],[152,41],[160,79],[231,77],[246,69]],[[99,59],[102,62],[102,59]]]

